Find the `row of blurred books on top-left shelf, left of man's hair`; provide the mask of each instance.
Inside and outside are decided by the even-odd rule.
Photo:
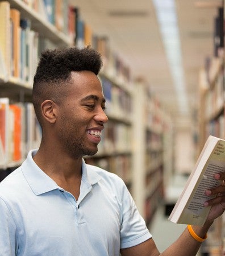
[[[29,19],[20,17],[19,10],[10,9],[7,1],[0,2],[0,16],[1,76],[31,86],[41,50],[39,34],[31,30]]]

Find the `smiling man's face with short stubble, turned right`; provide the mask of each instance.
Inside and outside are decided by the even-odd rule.
[[[101,131],[108,121],[104,109],[105,97],[98,77],[90,71],[72,72],[68,96],[60,104],[56,120],[60,144],[72,158],[98,151]]]

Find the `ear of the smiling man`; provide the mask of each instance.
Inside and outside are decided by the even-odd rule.
[[[51,100],[45,100],[41,103],[41,113],[45,121],[49,123],[56,122],[56,108],[55,102]]]

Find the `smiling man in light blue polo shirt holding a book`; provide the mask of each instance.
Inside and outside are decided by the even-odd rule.
[[[123,181],[85,164],[83,156],[97,152],[108,120],[97,77],[101,65],[89,47],[42,54],[33,103],[43,136],[39,149],[0,185],[1,256],[195,255],[197,240],[223,213],[224,196],[210,200],[205,225],[193,226],[192,234],[186,229],[160,254]]]

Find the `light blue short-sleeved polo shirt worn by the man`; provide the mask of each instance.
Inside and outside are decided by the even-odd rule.
[[[122,179],[82,163],[78,201],[32,159],[0,183],[0,255],[119,256],[151,238]]]

